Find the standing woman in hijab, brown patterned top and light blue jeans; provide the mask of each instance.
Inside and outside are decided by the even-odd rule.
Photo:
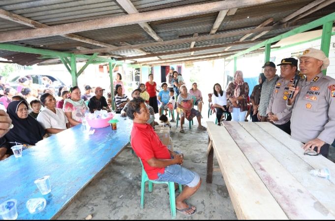
[[[233,121],[244,121],[248,110],[248,94],[249,85],[244,82],[242,71],[236,71],[234,82],[228,85],[226,92],[227,105],[229,105],[229,112],[232,114]]]

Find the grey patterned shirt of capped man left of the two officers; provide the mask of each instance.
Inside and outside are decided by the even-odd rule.
[[[274,84],[277,81],[279,76],[276,74],[274,75],[274,78],[272,78],[270,81],[266,79],[262,86],[261,91],[261,100],[259,101],[259,107],[258,112],[260,116],[266,117],[266,109],[268,108],[270,98],[272,93],[274,92]]]

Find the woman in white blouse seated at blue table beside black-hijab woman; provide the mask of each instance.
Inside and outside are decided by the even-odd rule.
[[[70,128],[64,112],[60,108],[56,108],[56,98],[49,93],[41,96],[42,105],[45,109],[37,116],[37,121],[45,128],[49,134],[57,134],[67,128]]]

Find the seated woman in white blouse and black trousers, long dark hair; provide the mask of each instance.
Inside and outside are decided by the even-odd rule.
[[[219,83],[213,86],[212,103],[216,110],[217,125],[221,125],[221,117],[223,113],[228,113],[226,121],[231,121],[231,114],[228,112],[226,92],[222,91]]]

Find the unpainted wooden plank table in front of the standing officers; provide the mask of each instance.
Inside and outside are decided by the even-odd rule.
[[[213,153],[239,219],[335,219],[333,181],[309,174],[335,164],[304,155],[302,143],[271,123],[208,122],[208,183]]]

